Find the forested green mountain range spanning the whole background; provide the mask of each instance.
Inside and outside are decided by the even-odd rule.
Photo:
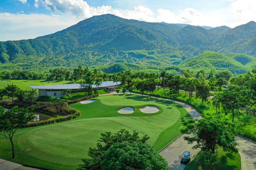
[[[246,63],[245,58],[245,61],[240,58],[232,62],[227,55],[216,57],[215,53],[200,57],[207,50],[252,57],[245,65],[241,64]],[[255,51],[256,23],[253,21],[233,29],[227,26],[204,29],[201,26],[128,20],[107,14],[93,16],[62,31],[35,39],[0,42],[0,70],[49,70],[77,65],[111,72],[117,65],[122,69],[169,67],[180,70],[188,65],[192,69],[197,68],[199,63],[194,60],[198,58],[200,65],[206,67],[211,65],[219,70],[244,73],[255,67],[252,62]],[[211,58],[214,61],[208,60]],[[223,66],[223,62],[227,62],[227,66]]]

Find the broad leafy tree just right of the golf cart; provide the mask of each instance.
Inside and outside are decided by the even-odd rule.
[[[238,153],[236,146],[237,130],[236,124],[227,119],[202,118],[202,119],[181,119],[185,129],[181,129],[184,140],[188,144],[196,143],[192,149],[201,148],[203,151],[217,151],[217,145],[222,147],[225,152]]]

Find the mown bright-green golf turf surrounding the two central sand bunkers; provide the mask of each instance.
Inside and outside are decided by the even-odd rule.
[[[22,159],[33,157],[36,159],[30,162],[33,165],[52,167],[54,164],[57,169],[76,169],[82,163],[81,158],[90,158],[87,151],[89,147],[96,147],[100,133],[116,133],[121,129],[131,133],[136,130],[140,136],[149,135],[147,142],[158,151],[180,135],[180,118],[191,118],[183,107],[166,100],[130,94],[106,95],[93,99],[96,101],[92,103],[78,102],[69,105],[82,112],[79,118],[19,130],[15,138],[16,149],[23,152]],[[134,113],[118,113],[118,110],[127,106],[133,107]],[[155,106],[159,111],[142,113],[140,108],[146,106]],[[1,147],[3,146],[0,149]],[[0,153],[1,157],[3,155]],[[19,161],[19,155],[15,159]]]

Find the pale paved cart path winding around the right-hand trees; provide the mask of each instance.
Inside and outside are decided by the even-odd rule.
[[[132,93],[132,94],[141,95],[137,93]],[[149,95],[143,95],[143,96],[149,96]],[[162,97],[154,97],[154,96],[151,96],[151,97],[171,101],[170,99],[166,99]],[[202,118],[201,115],[190,105],[187,105],[185,103],[178,102],[178,101],[176,101],[175,103],[183,106],[188,111],[188,113],[192,116],[193,119]],[[193,145],[187,144],[187,142],[183,140],[184,136],[185,135],[181,135],[180,137],[175,139],[171,144],[169,144],[159,152],[160,155],[166,158],[171,170],[181,170],[185,167],[184,164],[180,164],[181,154],[185,150],[190,151],[192,153],[192,158],[197,152],[199,152],[199,150],[191,149]],[[239,149],[239,154],[241,155],[241,158],[242,158],[242,168],[244,170],[256,169],[256,144],[239,136],[236,138],[236,141],[239,144],[237,148]]]

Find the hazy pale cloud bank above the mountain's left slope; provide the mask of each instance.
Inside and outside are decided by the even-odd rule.
[[[78,23],[76,17],[0,13],[0,41],[35,38]]]

